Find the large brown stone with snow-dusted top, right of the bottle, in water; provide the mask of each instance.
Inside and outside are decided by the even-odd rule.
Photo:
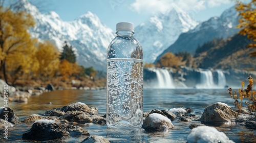
[[[201,116],[202,122],[230,122],[238,113],[224,103],[215,103],[204,109]]]

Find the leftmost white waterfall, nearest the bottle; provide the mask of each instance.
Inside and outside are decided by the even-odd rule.
[[[155,70],[158,81],[158,88],[175,88],[173,78],[170,76],[167,69],[157,68]]]

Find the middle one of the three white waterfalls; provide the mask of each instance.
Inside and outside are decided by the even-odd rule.
[[[212,76],[212,72],[210,70],[200,70],[200,84],[198,84],[197,88],[214,88],[216,85],[214,84],[214,77]]]

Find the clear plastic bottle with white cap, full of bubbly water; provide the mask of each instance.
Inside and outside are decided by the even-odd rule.
[[[143,50],[134,24],[120,22],[107,52],[106,125],[140,128],[143,124]]]

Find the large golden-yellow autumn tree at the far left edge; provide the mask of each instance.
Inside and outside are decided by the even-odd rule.
[[[1,3],[2,4],[2,3]],[[28,29],[35,24],[32,16],[25,11],[12,11],[0,5],[0,69],[4,79],[7,79],[7,62],[9,67],[14,60],[32,62],[31,54],[36,52],[35,39],[32,39]],[[18,61],[18,62],[20,62]],[[17,63],[12,70],[15,73],[26,73],[31,64]],[[16,69],[15,69],[16,68]]]

